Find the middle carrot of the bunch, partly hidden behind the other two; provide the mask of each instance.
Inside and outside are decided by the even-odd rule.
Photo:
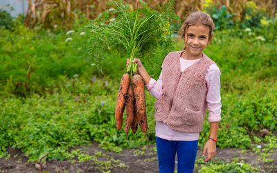
[[[134,119],[134,90],[132,88],[132,85],[129,85],[125,104],[126,104],[127,117],[126,117],[124,130],[125,130],[125,134],[127,136],[128,132],[129,132],[129,128]]]

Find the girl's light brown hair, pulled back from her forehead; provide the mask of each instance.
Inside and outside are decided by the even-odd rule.
[[[186,30],[188,30],[189,26],[197,26],[197,25],[204,25],[210,28],[208,32],[208,41],[211,42],[211,38],[213,36],[213,29],[215,28],[215,24],[213,23],[213,19],[210,17],[209,14],[206,12],[195,11],[192,12],[186,17],[186,21],[181,26],[181,38],[185,38]]]

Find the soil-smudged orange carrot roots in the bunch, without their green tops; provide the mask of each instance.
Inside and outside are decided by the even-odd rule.
[[[130,83],[131,81],[131,83]],[[123,112],[126,108],[125,134],[128,135],[129,128],[135,134],[138,130],[138,124],[141,131],[146,134],[148,123],[146,118],[144,81],[141,75],[134,73],[130,78],[127,72],[123,74],[116,101],[116,128],[120,130],[123,125]]]

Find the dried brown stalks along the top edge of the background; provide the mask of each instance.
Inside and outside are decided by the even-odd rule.
[[[78,14],[74,10],[84,12],[88,19],[94,19],[98,15],[109,8],[106,3],[112,0],[28,0],[28,10],[26,12],[25,26],[33,28],[39,23],[46,28],[55,25],[64,26],[69,29],[74,21],[74,17]],[[125,0],[130,4],[131,9],[140,8],[139,0]],[[157,6],[161,6],[168,0],[144,0],[151,8],[157,10]],[[175,12],[181,20],[184,21],[188,13],[193,10],[203,10],[202,4],[205,0],[176,0]],[[243,19],[244,6],[247,1],[254,1],[260,9],[265,9],[267,17],[274,17],[277,8],[277,0],[213,0],[215,6],[220,8],[226,6],[231,13],[236,14],[237,19]]]

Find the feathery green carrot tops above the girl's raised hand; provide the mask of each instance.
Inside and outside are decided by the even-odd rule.
[[[88,50],[96,62],[104,59],[103,52],[118,53],[130,59],[127,72],[131,77],[136,72],[136,64],[132,63],[134,58],[146,59],[158,46],[168,53],[172,44],[170,22],[177,19],[173,1],[160,8],[159,12],[143,1],[140,3],[142,8],[132,11],[127,4],[112,1],[109,4],[116,10],[103,12],[88,26],[93,31]],[[116,18],[109,19],[109,13],[116,14]]]

